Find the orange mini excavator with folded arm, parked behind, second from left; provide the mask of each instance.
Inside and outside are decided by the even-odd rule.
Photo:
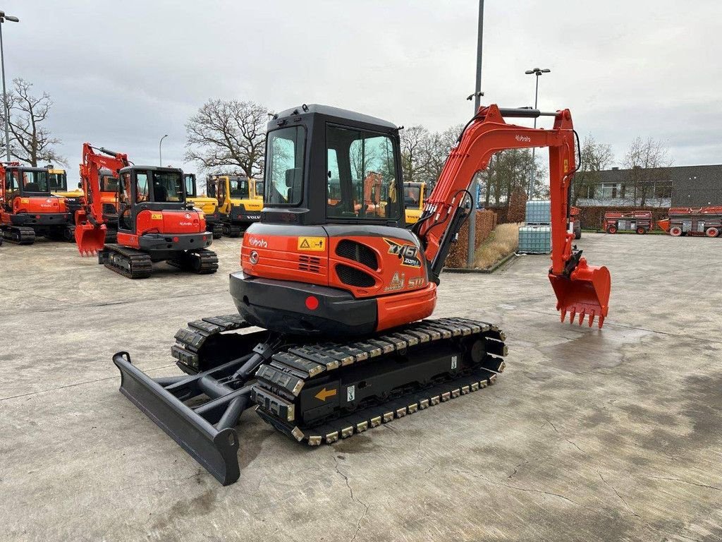
[[[147,278],[153,262],[168,262],[199,274],[214,273],[218,257],[207,249],[212,233],[200,210],[186,202],[183,171],[149,165],[129,165],[128,156],[83,145],[80,165],[84,207],[76,212],[75,241],[81,254],[96,254],[105,264],[128,278]],[[101,168],[119,179],[117,242],[106,244],[108,213],[103,207]]]

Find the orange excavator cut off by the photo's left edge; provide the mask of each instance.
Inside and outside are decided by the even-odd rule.
[[[64,238],[70,212],[64,197],[51,193],[48,168],[0,163],[0,230],[13,243],[30,245],[35,236]]]

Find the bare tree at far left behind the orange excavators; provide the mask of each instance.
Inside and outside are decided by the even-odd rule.
[[[43,126],[53,106],[50,95],[32,95],[32,83],[25,79],[13,79],[12,83],[8,95],[10,155],[32,167],[45,163],[67,165],[67,160],[56,150],[60,139],[52,137],[50,130]],[[4,150],[4,145],[2,148]]]

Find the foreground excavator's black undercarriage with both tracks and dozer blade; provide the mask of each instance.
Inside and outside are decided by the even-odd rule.
[[[188,376],[152,379],[121,352],[121,392],[224,485],[240,473],[234,428],[248,408],[298,442],[331,444],[494,384],[507,354],[503,331],[461,318],[341,344],[232,314],[189,322],[175,339],[171,353]]]

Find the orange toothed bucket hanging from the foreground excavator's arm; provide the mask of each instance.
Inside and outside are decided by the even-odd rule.
[[[604,325],[604,318],[609,311],[609,293],[612,291],[612,278],[606,267],[587,265],[586,259],[581,258],[569,277],[550,273],[549,280],[557,294],[557,310],[560,311],[562,322],[568,312],[570,324],[578,318],[581,325],[587,318],[591,327],[596,317],[599,327]]]

